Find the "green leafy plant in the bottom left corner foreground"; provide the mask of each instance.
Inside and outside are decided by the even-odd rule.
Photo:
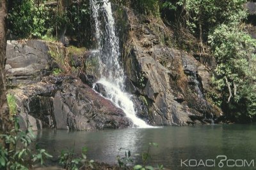
[[[20,131],[17,118],[10,134],[0,134],[0,169],[26,170],[31,168],[31,162],[44,164],[45,159],[52,157],[44,149],[36,148],[32,152],[29,146],[35,136],[31,129]],[[4,145],[3,145],[4,144]]]

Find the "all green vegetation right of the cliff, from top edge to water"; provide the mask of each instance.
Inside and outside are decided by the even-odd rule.
[[[244,3],[245,0],[177,0],[164,1],[161,6],[165,13],[174,11],[179,16],[177,24],[199,39],[199,49],[194,52],[216,58],[212,87],[217,93],[208,96],[235,122],[250,122],[256,113],[256,41],[244,32],[243,22],[248,14]]]

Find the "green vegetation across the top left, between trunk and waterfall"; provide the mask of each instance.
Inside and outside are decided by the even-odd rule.
[[[8,29],[17,38],[60,39],[67,32],[76,45],[88,45],[90,13],[88,1],[58,1],[49,6],[45,1],[13,0],[9,3]],[[88,38],[87,38],[88,37]]]

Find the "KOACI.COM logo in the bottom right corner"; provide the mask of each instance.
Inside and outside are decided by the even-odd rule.
[[[218,155],[216,159],[180,160],[181,167],[254,167],[254,159],[228,159],[226,155]]]

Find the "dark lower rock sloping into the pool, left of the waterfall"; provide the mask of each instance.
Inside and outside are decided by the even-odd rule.
[[[61,79],[61,85],[55,80]],[[71,77],[47,77],[44,82],[10,90],[19,108],[20,126],[93,131],[132,125],[124,111],[100,96],[88,85]]]

